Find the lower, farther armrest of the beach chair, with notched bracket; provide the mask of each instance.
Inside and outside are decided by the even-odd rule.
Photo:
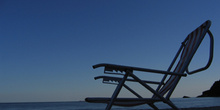
[[[103,83],[114,83],[114,82],[119,82],[122,80],[122,78],[119,77],[111,77],[111,76],[97,76],[94,78],[95,80],[97,79],[103,79]],[[131,82],[137,82],[136,80],[133,79],[126,79],[126,81],[131,81]],[[149,83],[149,84],[160,84],[161,82],[156,82],[156,81],[146,81],[142,80],[144,83]],[[164,84],[164,83],[163,83]]]

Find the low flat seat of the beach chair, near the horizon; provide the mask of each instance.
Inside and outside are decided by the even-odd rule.
[[[91,97],[86,98],[86,102],[92,103],[109,103],[111,98],[100,98],[100,97]],[[137,106],[142,104],[150,104],[157,101],[161,101],[159,99],[152,99],[152,98],[117,98],[115,99],[113,105],[117,106]]]

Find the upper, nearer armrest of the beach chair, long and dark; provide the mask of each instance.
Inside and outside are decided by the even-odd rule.
[[[123,65],[115,65],[115,64],[107,64],[107,63],[100,63],[100,64],[97,64],[97,65],[93,66],[94,69],[99,68],[99,67],[105,67],[105,72],[106,71],[110,71],[110,72],[120,71],[122,73],[122,72],[126,72],[127,70],[131,70],[131,71],[143,71],[143,72],[177,75],[177,76],[187,76],[186,74],[179,74],[179,73],[169,72],[169,71],[139,68],[139,67],[131,67],[131,66],[123,66]]]

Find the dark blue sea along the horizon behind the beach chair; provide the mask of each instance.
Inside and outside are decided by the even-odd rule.
[[[214,107],[220,106],[220,98],[173,98],[171,101],[179,108]],[[170,107],[162,102],[155,103],[159,109]],[[26,102],[26,103],[0,103],[0,110],[104,110],[106,104],[73,102]],[[146,110],[148,105],[135,107],[113,106],[112,110]]]

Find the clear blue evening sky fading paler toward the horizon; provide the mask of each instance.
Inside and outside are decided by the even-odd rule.
[[[93,77],[103,75],[103,68],[93,70],[92,65],[113,63],[166,70],[187,34],[211,20],[215,53],[210,69],[183,78],[172,97],[198,96],[220,79],[219,3],[1,0],[0,102],[110,96],[114,86],[95,81]],[[206,44],[192,68],[206,63]]]

